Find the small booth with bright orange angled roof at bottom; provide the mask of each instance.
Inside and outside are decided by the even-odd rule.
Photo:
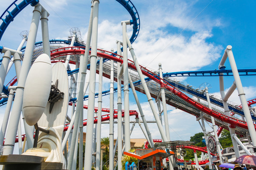
[[[138,159],[138,170],[149,170],[150,168],[152,170],[163,170],[163,158],[173,155],[174,152],[169,151],[169,149],[150,148],[137,149],[135,153],[124,152],[124,154]]]

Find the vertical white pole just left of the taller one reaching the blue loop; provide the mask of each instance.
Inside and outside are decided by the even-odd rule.
[[[121,55],[121,44],[117,41],[117,54]],[[121,71],[120,62],[117,62],[117,75]],[[121,89],[121,77],[117,77],[117,169],[122,170],[122,89]]]

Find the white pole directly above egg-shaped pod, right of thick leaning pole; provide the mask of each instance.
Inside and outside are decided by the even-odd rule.
[[[48,29],[48,17],[49,13],[42,9],[41,14],[41,27],[42,27],[42,39],[44,53],[51,58],[50,42],[49,42],[49,29]]]

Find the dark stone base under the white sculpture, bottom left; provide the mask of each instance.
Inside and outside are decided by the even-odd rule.
[[[0,156],[3,170],[63,170],[62,163],[44,162],[44,157],[31,155]]]

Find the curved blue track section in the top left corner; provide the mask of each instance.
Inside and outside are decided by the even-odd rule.
[[[26,6],[31,4],[31,6],[35,6],[38,4],[39,0],[23,0],[18,5],[16,4],[17,0],[15,0],[1,15],[0,20],[2,23],[0,25],[0,40],[3,36],[4,31],[9,26],[9,24],[14,20],[17,14],[20,13]],[[15,7],[14,7],[15,6]],[[14,7],[14,8],[13,8]],[[12,11],[9,11],[10,8],[13,8]],[[3,18],[5,16],[5,18]]]

